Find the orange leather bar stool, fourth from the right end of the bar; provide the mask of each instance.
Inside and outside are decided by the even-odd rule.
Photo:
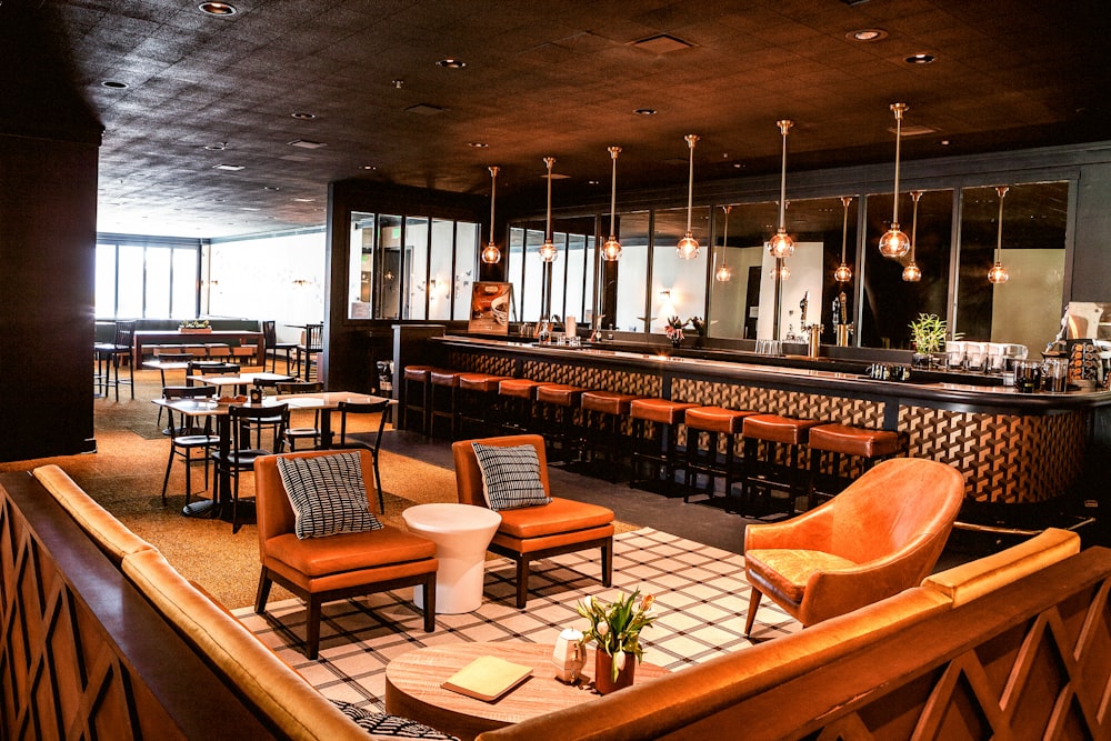
[[[637,399],[629,403],[635,442],[630,485],[653,489],[662,484],[663,493],[673,492],[675,471],[681,468],[677,453],[679,425],[685,421],[687,410],[698,405],[670,399]],[[650,432],[644,430],[648,423],[652,424]],[[651,464],[652,473],[648,478],[640,478],[640,468],[644,462]],[[660,473],[663,473],[662,481]]]

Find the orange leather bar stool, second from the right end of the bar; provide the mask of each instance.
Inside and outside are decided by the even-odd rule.
[[[744,439],[744,475],[741,478],[741,507],[751,511],[752,491],[764,493],[764,507],[771,509],[772,492],[787,492],[787,512],[793,514],[795,499],[810,490],[809,461],[800,465],[799,457],[810,437],[810,429],[821,424],[818,420],[753,414],[745,417],[741,427]],[[809,454],[809,451],[807,451]]]

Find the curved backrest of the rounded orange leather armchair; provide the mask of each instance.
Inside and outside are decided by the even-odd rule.
[[[883,461],[821,505],[833,512],[827,550],[863,563],[934,541],[940,554],[963,501],[964,477],[953,467],[923,458]]]

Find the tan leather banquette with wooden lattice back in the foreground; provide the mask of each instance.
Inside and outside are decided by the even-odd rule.
[[[368,738],[57,467],[0,474],[0,737]],[[1108,739],[1111,551],[1079,549],[1047,530],[479,739]]]

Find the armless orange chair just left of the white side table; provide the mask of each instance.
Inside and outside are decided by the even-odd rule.
[[[320,644],[320,607],[333,600],[421,585],[424,630],[436,629],[438,562],[432,541],[388,524],[363,532],[298,538],[297,515],[286,493],[278,461],[337,453],[358,454],[367,501],[373,500],[374,463],[369,450],[319,450],[266,455],[254,461],[259,557],[262,560],[254,611],[259,614],[266,611],[272,582],[304,600],[309,611],[304,654],[309,659],[317,658]],[[367,513],[370,514],[369,503]]]

